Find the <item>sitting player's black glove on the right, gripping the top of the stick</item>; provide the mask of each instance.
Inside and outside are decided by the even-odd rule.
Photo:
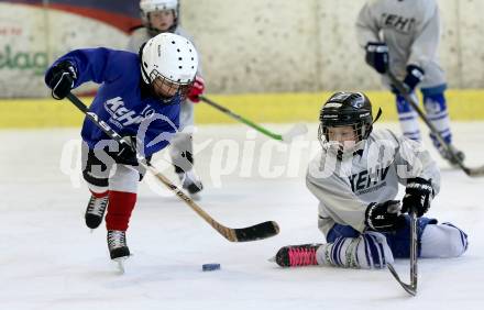
[[[411,178],[407,180],[407,188],[402,200],[402,212],[410,211],[414,207],[417,211],[417,217],[424,215],[430,209],[430,202],[433,199],[433,188],[429,180],[424,178]]]

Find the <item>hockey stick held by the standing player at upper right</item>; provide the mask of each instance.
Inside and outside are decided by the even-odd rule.
[[[427,126],[430,129],[430,132],[432,135],[437,139],[437,141],[446,148],[446,152],[448,152],[452,159],[455,160],[458,166],[464,170],[464,173],[470,177],[480,177],[484,175],[484,165],[481,167],[475,168],[469,168],[464,165],[461,158],[455,154],[455,152],[452,150],[450,144],[448,144],[440,132],[436,129],[436,126],[427,119],[426,114],[421,111],[420,107],[418,106],[418,102],[415,101],[415,98],[408,93],[407,89],[404,87],[404,84],[399,81],[392,71],[388,70],[388,77],[392,81],[392,85],[395,86],[395,88],[404,96],[405,100],[414,108],[414,110],[417,112],[417,114],[420,117],[420,119],[427,124]]]

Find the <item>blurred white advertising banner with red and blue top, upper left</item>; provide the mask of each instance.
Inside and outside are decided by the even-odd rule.
[[[47,96],[43,76],[54,59],[75,48],[123,49],[138,16],[138,1],[0,0],[0,98]]]

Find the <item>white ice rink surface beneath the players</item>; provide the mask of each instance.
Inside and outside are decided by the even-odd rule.
[[[483,128],[453,123],[470,166],[484,164]],[[316,132],[312,124],[304,140],[286,146],[243,125],[198,128],[199,204],[228,226],[275,220],[280,233],[230,243],[146,177],[128,233],[134,255],[120,275],[105,226],[90,233],[84,224],[89,195],[77,167],[79,130],[0,131],[0,309],[482,309],[484,178],[470,178],[437,156],[442,187],[428,215],[462,228],[470,247],[460,258],[420,259],[417,297],[386,269],[282,269],[267,262],[280,246],[323,242],[317,201],[304,181]],[[166,155],[155,163],[176,180]],[[221,269],[204,273],[206,263]],[[407,280],[408,261],[396,268]]]

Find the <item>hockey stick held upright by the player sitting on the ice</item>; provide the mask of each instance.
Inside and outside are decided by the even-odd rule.
[[[402,287],[411,296],[417,295],[417,214],[415,208],[410,208],[410,283],[404,283],[392,264],[387,264],[389,272]]]

